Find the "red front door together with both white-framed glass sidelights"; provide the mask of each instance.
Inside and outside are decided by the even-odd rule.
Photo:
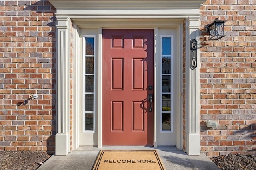
[[[179,33],[172,27],[79,31],[83,57],[77,58],[80,134],[76,146],[181,148]]]

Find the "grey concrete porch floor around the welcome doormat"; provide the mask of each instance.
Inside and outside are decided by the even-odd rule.
[[[158,150],[166,170],[220,170],[207,156],[188,156],[176,147],[102,147],[102,150]],[[80,147],[67,156],[51,156],[38,170],[91,170],[101,149]]]

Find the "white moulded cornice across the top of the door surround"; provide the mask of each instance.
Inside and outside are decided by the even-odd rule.
[[[206,0],[49,0],[56,15],[71,18],[134,18],[199,16]],[[153,17],[154,18],[154,17]]]

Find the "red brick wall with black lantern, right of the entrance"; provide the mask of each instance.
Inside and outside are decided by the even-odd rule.
[[[201,151],[256,154],[256,1],[207,0],[200,9]],[[209,41],[204,25],[215,18],[228,20],[226,37]]]

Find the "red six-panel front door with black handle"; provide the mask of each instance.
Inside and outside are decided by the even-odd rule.
[[[153,145],[153,33],[103,29],[102,145]]]

